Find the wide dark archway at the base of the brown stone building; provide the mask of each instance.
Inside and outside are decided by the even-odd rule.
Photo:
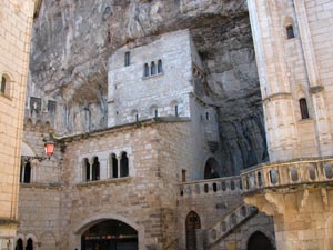
[[[81,237],[81,250],[138,250],[138,231],[119,220],[105,220]]]

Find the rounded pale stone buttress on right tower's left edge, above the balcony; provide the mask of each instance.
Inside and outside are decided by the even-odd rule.
[[[297,128],[276,0],[248,0],[271,161],[297,157]]]

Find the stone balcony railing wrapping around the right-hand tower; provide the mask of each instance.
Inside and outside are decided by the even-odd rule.
[[[333,181],[333,159],[300,159],[246,169],[241,174],[243,193],[265,188]]]

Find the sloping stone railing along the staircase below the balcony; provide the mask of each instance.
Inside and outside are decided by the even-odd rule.
[[[239,227],[243,221],[256,213],[258,210],[254,207],[250,207],[244,203],[239,204],[214,227],[202,232],[203,249],[208,249],[210,246],[219,242],[234,228]]]

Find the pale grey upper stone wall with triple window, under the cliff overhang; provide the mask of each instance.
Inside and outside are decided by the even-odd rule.
[[[132,43],[117,50],[109,60],[108,127],[154,117],[174,116],[172,103],[179,104],[179,116],[190,117],[189,96],[192,91],[190,33],[175,31],[135,47]],[[124,67],[124,53],[130,64]],[[162,60],[163,72],[144,77],[144,63]]]

